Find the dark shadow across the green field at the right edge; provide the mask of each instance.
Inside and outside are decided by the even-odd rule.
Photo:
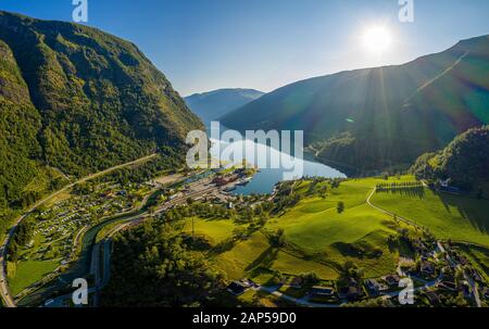
[[[459,214],[471,225],[485,235],[489,235],[489,201],[472,199],[464,195],[452,195],[437,192],[448,213],[450,207],[456,208]]]

